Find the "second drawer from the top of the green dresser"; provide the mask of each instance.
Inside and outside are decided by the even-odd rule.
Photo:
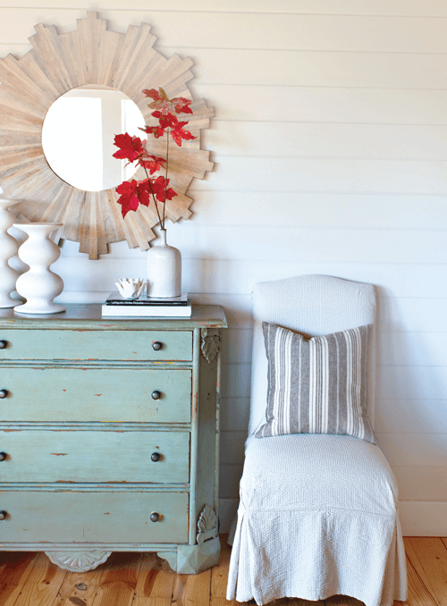
[[[0,421],[190,423],[191,371],[1,368]]]

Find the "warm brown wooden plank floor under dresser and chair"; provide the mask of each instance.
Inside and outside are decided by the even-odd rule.
[[[113,553],[97,570],[75,573],[56,567],[44,553],[0,552],[0,606],[240,606],[225,600],[231,553],[225,539],[223,535],[219,565],[196,576],[174,574],[153,553]],[[409,599],[394,606],[447,606],[447,538],[406,537],[404,541]],[[362,602],[343,596],[321,602],[272,602],[272,606],[311,605],[362,606]]]

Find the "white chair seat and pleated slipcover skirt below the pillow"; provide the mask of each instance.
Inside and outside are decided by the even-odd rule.
[[[334,481],[335,479],[335,481]],[[247,442],[227,599],[406,599],[397,485],[384,454],[344,435]]]

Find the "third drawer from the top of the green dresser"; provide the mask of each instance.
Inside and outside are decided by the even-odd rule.
[[[190,479],[190,433],[0,431],[0,482],[149,482]],[[160,459],[151,460],[158,453]]]

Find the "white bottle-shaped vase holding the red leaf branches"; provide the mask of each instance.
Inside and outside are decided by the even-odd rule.
[[[148,296],[172,299],[181,295],[181,253],[166,243],[166,230],[160,231],[161,244],[148,249]]]

